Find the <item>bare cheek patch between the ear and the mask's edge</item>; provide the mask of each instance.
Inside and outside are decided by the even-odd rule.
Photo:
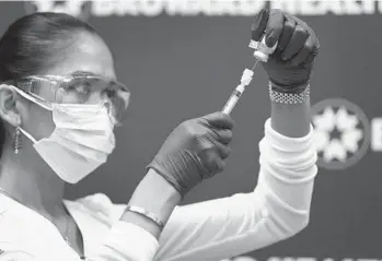
[[[51,111],[43,109],[38,105],[30,106],[24,128],[37,141],[48,138],[55,129]]]

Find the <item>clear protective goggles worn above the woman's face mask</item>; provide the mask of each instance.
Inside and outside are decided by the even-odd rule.
[[[103,104],[109,115],[121,123],[129,104],[130,91],[125,84],[101,75],[89,73],[71,75],[30,75],[5,81],[36,99],[42,106],[51,108],[51,104]],[[37,95],[44,85],[50,85],[51,102]],[[100,96],[101,95],[101,96]]]

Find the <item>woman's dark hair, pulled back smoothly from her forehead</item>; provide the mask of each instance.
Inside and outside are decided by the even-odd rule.
[[[85,22],[65,13],[38,12],[11,24],[0,39],[0,82],[38,74],[59,61],[58,54],[76,43],[79,33],[97,35]],[[5,129],[0,119],[0,155]]]

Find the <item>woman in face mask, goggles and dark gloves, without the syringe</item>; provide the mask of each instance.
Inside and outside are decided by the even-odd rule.
[[[304,228],[316,175],[309,80],[319,43],[304,22],[278,10],[256,15],[252,39],[264,32],[278,46],[263,63],[271,118],[254,192],[175,207],[224,167],[233,122],[215,112],[170,134],[126,206],[104,194],[62,199],[65,182],[113,152],[127,107],[107,46],[66,14],[13,23],[0,40],[0,260],[219,260]]]

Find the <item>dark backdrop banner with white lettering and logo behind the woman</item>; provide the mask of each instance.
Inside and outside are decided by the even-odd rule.
[[[311,82],[320,153],[309,227],[235,261],[354,261],[382,257],[382,1],[27,1],[0,2],[0,32],[36,11],[67,12],[99,29],[116,59],[131,105],[107,164],[77,186],[74,199],[104,192],[126,203],[170,132],[183,120],[220,110],[255,62],[253,16],[281,8],[320,37]],[[254,80],[233,110],[233,153],[225,170],[185,200],[198,202],[253,190],[258,141],[269,117],[267,78]],[[197,261],[197,260],[196,260]]]

